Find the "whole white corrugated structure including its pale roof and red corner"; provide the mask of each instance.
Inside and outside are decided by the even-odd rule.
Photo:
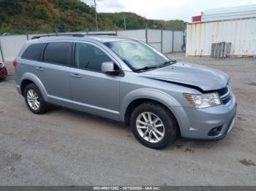
[[[256,4],[209,9],[187,24],[187,56],[211,55],[211,44],[231,42],[230,56],[256,55]]]

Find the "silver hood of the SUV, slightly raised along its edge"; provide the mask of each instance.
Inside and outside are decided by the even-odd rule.
[[[229,76],[222,71],[191,63],[174,63],[140,73],[142,77],[199,87],[204,91],[218,90],[227,86]]]

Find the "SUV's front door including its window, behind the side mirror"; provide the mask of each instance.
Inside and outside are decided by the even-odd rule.
[[[91,42],[76,42],[73,55],[69,82],[75,109],[117,120],[120,77],[101,72],[102,63],[113,58]]]

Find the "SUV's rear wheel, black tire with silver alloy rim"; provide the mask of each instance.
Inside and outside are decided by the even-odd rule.
[[[31,93],[34,93],[34,96]],[[37,85],[27,85],[24,90],[24,98],[26,101],[26,106],[28,106],[31,112],[34,114],[45,113],[47,106]]]

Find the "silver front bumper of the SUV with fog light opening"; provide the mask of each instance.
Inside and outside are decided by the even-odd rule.
[[[179,109],[178,123],[181,136],[188,139],[222,139],[233,128],[236,107],[236,97],[233,95],[225,105],[205,109],[190,107]]]

